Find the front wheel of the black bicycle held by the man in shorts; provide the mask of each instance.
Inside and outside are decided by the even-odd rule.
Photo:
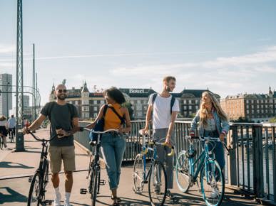
[[[35,173],[29,190],[28,206],[39,206],[40,204],[40,184],[41,177],[39,173]]]

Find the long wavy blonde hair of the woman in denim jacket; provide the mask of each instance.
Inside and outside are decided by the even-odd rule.
[[[215,98],[214,94],[212,94],[211,92],[203,92],[202,97],[204,95],[208,95],[208,97],[211,100],[211,104],[212,107],[215,108],[216,112],[218,113],[218,116],[220,117],[220,119],[223,119],[225,121],[228,121],[228,116],[225,114],[225,112],[223,112],[223,109],[220,107],[220,102],[218,102],[218,99]],[[208,112],[207,109],[205,107],[205,104],[203,103],[203,101],[200,104],[200,125],[203,125],[204,127],[207,126],[207,119],[208,119]]]

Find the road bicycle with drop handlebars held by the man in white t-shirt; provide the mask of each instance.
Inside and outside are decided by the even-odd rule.
[[[142,134],[141,131],[139,131]],[[152,141],[145,142],[146,135],[143,135],[143,150],[139,153],[133,165],[133,190],[135,193],[143,193],[143,188],[148,183],[148,195],[150,202],[153,205],[163,205],[167,193],[167,175],[165,166],[157,160],[156,146],[167,146],[165,143],[160,143],[153,139]],[[162,139],[161,139],[162,140]],[[153,146],[150,148],[149,146]],[[168,156],[174,155],[174,146]],[[152,151],[153,155],[150,157],[150,163],[147,166],[146,155],[148,151]]]

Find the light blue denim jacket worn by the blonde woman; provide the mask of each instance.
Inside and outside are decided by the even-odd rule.
[[[228,121],[225,121],[223,119],[220,119],[220,117],[218,116],[217,111],[215,111],[215,109],[212,109],[212,114],[215,120],[215,126],[218,130],[218,134],[228,134],[230,125],[228,123]],[[200,114],[199,114],[199,110],[197,112],[197,114],[195,114],[195,118],[193,119],[192,123],[190,124],[190,131],[194,132],[197,129],[198,126],[198,122],[200,121]],[[204,128],[203,126],[199,126],[199,136],[203,136],[204,135]]]

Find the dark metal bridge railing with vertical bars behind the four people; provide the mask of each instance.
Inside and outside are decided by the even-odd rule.
[[[81,121],[81,126],[88,122]],[[138,134],[145,121],[131,121],[131,134],[126,139],[123,161],[134,161],[140,153],[143,138]],[[227,137],[230,155],[225,153],[225,180],[227,185],[255,195],[262,200],[276,203],[276,124],[231,123]],[[190,121],[175,121],[175,156],[188,149],[185,136],[189,134]],[[90,149],[88,133],[78,133],[76,141]],[[198,141],[194,142],[197,155],[202,150]]]

